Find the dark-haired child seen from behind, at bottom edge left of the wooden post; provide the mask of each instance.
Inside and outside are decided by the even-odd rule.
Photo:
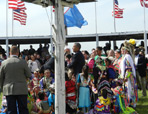
[[[50,114],[51,107],[49,107],[48,101],[45,98],[45,93],[40,91],[38,97],[39,99],[36,101],[37,108],[39,109],[38,114]]]

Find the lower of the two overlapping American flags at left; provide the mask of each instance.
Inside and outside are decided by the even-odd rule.
[[[26,18],[27,14],[25,13],[25,10],[13,10],[13,19],[19,21],[21,25],[26,25]]]

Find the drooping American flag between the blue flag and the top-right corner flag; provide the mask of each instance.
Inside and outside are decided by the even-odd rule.
[[[115,18],[123,18],[123,9],[120,9],[118,5],[118,1],[114,0],[114,11],[112,12],[112,16]]]

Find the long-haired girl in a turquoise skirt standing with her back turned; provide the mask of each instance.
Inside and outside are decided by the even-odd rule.
[[[85,65],[82,73],[78,75],[77,85],[79,87],[79,108],[85,113],[90,108],[90,76],[88,75],[89,67]]]

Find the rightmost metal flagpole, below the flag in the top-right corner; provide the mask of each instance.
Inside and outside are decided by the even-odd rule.
[[[145,47],[145,55],[147,54],[147,32],[146,32],[146,21],[145,21],[145,0],[143,2],[143,10],[144,10],[144,47]]]

